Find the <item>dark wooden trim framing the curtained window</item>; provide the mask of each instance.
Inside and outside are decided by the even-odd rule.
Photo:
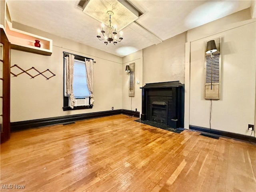
[[[85,61],[85,59],[86,59],[86,60],[92,59],[92,58],[88,58],[88,57],[76,55],[76,54],[69,53],[69,52],[63,52],[63,66],[65,65],[64,59],[65,59],[65,57],[68,57],[69,54],[74,55],[74,56],[75,56],[75,59],[76,59],[76,60],[80,60],[80,61]],[[92,60],[93,60],[93,59],[92,59]],[[64,67],[64,68],[65,68],[65,67]],[[64,68],[63,68],[63,69],[64,69]],[[64,77],[64,75],[65,75],[65,72],[64,72],[64,70],[63,70],[63,77]],[[74,107],[73,109],[72,109],[70,106],[68,106],[68,96],[65,96],[65,95],[64,95],[64,91],[65,91],[65,90],[64,90],[64,88],[65,88],[64,84],[65,84],[65,82],[63,82],[63,107],[62,107],[63,111],[79,110],[79,109],[91,109],[91,108],[92,108],[93,105],[90,104],[90,100],[89,100],[89,104],[90,104],[90,105],[87,105],[87,106],[76,106],[76,107]],[[89,97],[89,98],[90,98],[90,97]]]

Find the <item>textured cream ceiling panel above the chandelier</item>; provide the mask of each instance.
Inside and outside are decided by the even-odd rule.
[[[118,0],[90,0],[83,10],[84,13],[103,22],[105,25],[109,24],[108,11],[114,13],[114,15],[111,16],[111,24],[112,26],[116,24],[118,31],[138,19],[138,16],[128,10],[128,8],[118,2]]]

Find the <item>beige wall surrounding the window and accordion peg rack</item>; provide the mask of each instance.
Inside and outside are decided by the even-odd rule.
[[[56,76],[31,79],[27,74],[11,75],[11,122],[71,114],[122,109],[122,58],[16,23],[16,27],[53,40],[51,56],[11,50],[11,66],[50,69]],[[63,51],[94,58],[94,106],[92,109],[63,111]],[[12,68],[12,72],[18,70]]]

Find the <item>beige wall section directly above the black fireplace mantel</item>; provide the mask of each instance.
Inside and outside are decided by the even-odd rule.
[[[186,32],[143,49],[143,86],[185,77]]]

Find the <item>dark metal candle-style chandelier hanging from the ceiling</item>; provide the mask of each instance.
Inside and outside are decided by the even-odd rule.
[[[101,24],[101,26],[102,26],[102,30],[100,30],[100,29],[98,29],[98,35],[97,35],[97,37],[98,37],[98,39],[99,40],[105,40],[105,44],[107,45],[108,44],[108,42],[109,43],[111,43],[111,42],[113,42],[113,44],[114,45],[116,45],[117,44],[117,42],[120,42],[120,41],[122,41],[122,31],[120,31],[120,37],[119,37],[119,39],[120,39],[120,41],[118,41],[117,39],[116,39],[116,35],[117,35],[117,32],[116,32],[116,25],[115,26],[111,26],[111,16],[113,16],[114,15],[114,13],[112,12],[112,11],[108,11],[107,12],[107,14],[109,15],[109,25],[107,26],[107,33],[106,33],[106,35],[104,35],[104,33],[105,33],[105,31],[104,31],[104,24],[102,23]],[[101,38],[101,36],[100,36],[100,32],[102,33],[102,35],[103,35],[103,39],[100,39]]]

